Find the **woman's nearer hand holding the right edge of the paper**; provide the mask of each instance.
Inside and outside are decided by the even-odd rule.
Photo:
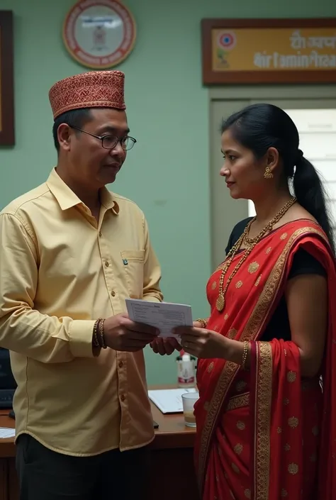
[[[181,346],[189,354],[203,358],[227,359],[230,340],[220,333],[206,328],[179,326],[174,329],[176,335],[181,336]]]

